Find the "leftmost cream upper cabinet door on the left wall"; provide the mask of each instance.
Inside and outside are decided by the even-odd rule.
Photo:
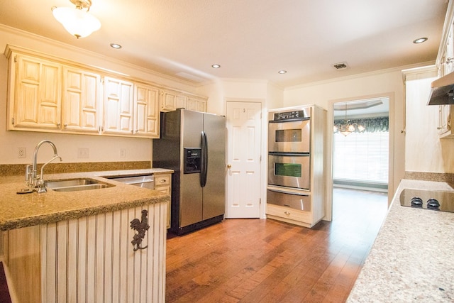
[[[61,124],[62,65],[11,53],[8,129],[56,130]]]

